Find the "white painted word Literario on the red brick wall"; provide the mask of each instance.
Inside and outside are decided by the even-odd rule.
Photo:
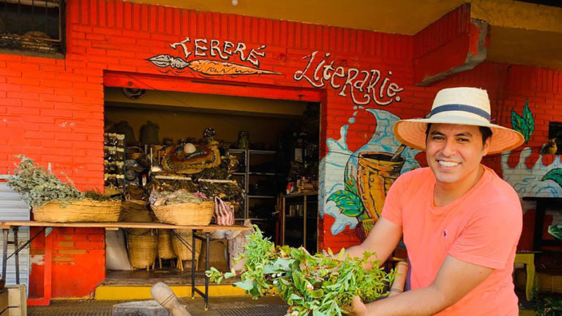
[[[330,53],[325,53],[321,60],[316,60],[317,54],[318,51],[315,51],[303,57],[303,59],[308,59],[308,64],[303,70],[297,70],[293,79],[296,81],[305,79],[315,88],[322,88],[328,82],[332,88],[340,89],[339,96],[345,97],[348,92],[356,105],[368,105],[373,102],[386,106],[395,100],[400,102],[401,98],[398,93],[404,88],[400,88],[394,82],[389,82],[392,72],[388,72],[388,77],[386,77],[381,74],[380,70],[367,71],[348,68],[346,71],[342,66],[334,66],[335,60],[331,62],[327,60]]]

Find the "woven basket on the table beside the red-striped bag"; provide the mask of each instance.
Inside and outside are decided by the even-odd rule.
[[[150,207],[160,222],[173,225],[209,225],[215,210],[211,201]]]

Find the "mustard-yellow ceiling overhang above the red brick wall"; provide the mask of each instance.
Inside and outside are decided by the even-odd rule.
[[[514,0],[130,1],[412,36],[469,3],[471,19],[489,25],[485,60],[562,67],[562,8],[557,6]]]

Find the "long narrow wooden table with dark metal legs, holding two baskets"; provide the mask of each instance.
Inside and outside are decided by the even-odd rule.
[[[30,238],[22,246],[18,245],[18,228],[21,226],[28,227],[42,227],[43,229],[36,235]],[[11,221],[0,221],[0,228],[4,232],[4,256],[2,257],[2,279],[6,279],[6,264],[8,259],[15,256],[15,282],[20,283],[20,263],[18,253],[25,248],[33,239],[41,235],[46,228],[53,227],[71,227],[71,228],[105,228],[105,230],[118,230],[119,228],[148,228],[148,229],[164,229],[164,230],[193,230],[192,234],[192,245],[195,245],[195,239],[200,239],[205,241],[205,270],[209,270],[209,244],[211,239],[211,232],[215,230],[251,230],[252,228],[247,226],[233,225],[233,226],[219,226],[219,225],[207,225],[207,226],[181,226],[181,225],[169,225],[163,223],[141,223],[141,222],[103,222],[103,223],[49,223],[49,222],[39,222],[34,220],[11,220]],[[13,241],[8,241],[8,232],[13,231]],[[197,235],[197,232],[204,237]],[[181,236],[177,235],[172,231],[182,244],[188,246]],[[13,254],[8,256],[8,244],[13,244],[15,246],[15,251]],[[44,289],[43,298],[30,298],[27,300],[28,305],[48,305],[51,302],[51,265],[52,265],[52,248],[53,248],[53,238],[48,232],[45,237],[45,256],[44,256]],[[192,248],[193,249],[193,248]],[[205,310],[209,308],[209,278],[205,275],[205,291],[200,291],[200,289],[195,288],[195,251],[192,250],[192,262],[191,262],[191,297],[195,297],[195,293],[200,294],[205,301]]]

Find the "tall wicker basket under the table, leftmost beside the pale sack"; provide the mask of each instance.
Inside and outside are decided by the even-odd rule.
[[[131,268],[150,268],[155,264],[158,237],[156,235],[127,235]]]

